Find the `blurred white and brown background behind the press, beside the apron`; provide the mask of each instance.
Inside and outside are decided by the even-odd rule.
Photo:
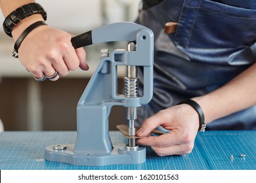
[[[114,22],[134,22],[141,0],[51,1],[38,0],[47,10],[47,24],[78,35]],[[4,21],[3,14],[0,22]],[[106,35],[107,36],[107,35]],[[0,119],[5,131],[74,131],[76,107],[99,63],[100,49],[125,48],[123,42],[100,43],[85,48],[89,71],[71,71],[56,82],[36,82],[31,73],[12,58],[12,38],[0,26]],[[119,69],[119,90],[125,71]],[[125,120],[125,108],[114,107],[110,130]]]

